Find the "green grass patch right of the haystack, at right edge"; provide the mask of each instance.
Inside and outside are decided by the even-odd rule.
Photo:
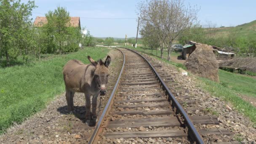
[[[256,97],[256,79],[219,69],[219,80],[224,87],[233,91]]]

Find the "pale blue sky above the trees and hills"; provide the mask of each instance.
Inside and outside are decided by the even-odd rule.
[[[21,0],[27,2],[28,0]],[[94,37],[136,37],[136,5],[141,0],[35,0],[38,8],[32,11],[36,16],[44,16],[57,6],[66,7],[70,16],[79,16],[82,27],[86,27]],[[184,0],[186,5],[200,8],[198,21],[204,25],[211,21],[217,27],[237,26],[256,20],[256,0]],[[93,19],[88,19],[93,18]],[[107,18],[107,19],[94,19]],[[118,19],[109,19],[118,18]],[[132,18],[132,19],[119,19]]]

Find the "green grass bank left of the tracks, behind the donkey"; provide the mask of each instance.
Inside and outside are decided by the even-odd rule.
[[[1,68],[0,133],[39,112],[54,96],[64,92],[62,68],[67,61],[78,59],[87,64],[87,55],[97,60],[108,51],[108,48],[84,48],[32,64]]]

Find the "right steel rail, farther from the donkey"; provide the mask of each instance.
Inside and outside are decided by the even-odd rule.
[[[123,47],[120,47],[123,48]],[[200,134],[198,133],[197,129],[195,128],[194,124],[192,123],[192,121],[190,120],[189,116],[187,115],[187,113],[184,111],[184,109],[181,107],[181,105],[179,104],[179,102],[176,100],[176,98],[173,96],[173,93],[171,93],[170,89],[168,88],[168,86],[165,84],[165,82],[163,81],[163,79],[160,77],[160,75],[158,74],[158,72],[156,71],[156,69],[149,63],[149,61],[142,56],[140,53],[131,50],[129,48],[125,48],[128,49],[130,51],[133,51],[134,53],[137,53],[139,56],[141,56],[145,61],[147,61],[147,63],[149,64],[149,67],[152,69],[152,71],[155,73],[157,79],[160,81],[160,83],[163,86],[163,89],[165,90],[166,94],[168,95],[169,99],[171,99],[173,101],[173,103],[176,105],[176,108],[179,109],[179,112],[181,113],[181,115],[184,117],[189,129],[191,130],[191,132],[193,133],[194,137],[192,137],[192,139],[195,139],[196,143],[198,144],[204,144],[204,141],[202,139],[202,137],[200,136]]]

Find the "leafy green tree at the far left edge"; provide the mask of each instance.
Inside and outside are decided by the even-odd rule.
[[[7,66],[10,65],[10,57],[16,58],[19,48],[29,43],[27,34],[32,24],[29,17],[33,8],[36,8],[34,1],[0,0],[0,54],[5,55]],[[21,41],[24,43],[19,43]]]

